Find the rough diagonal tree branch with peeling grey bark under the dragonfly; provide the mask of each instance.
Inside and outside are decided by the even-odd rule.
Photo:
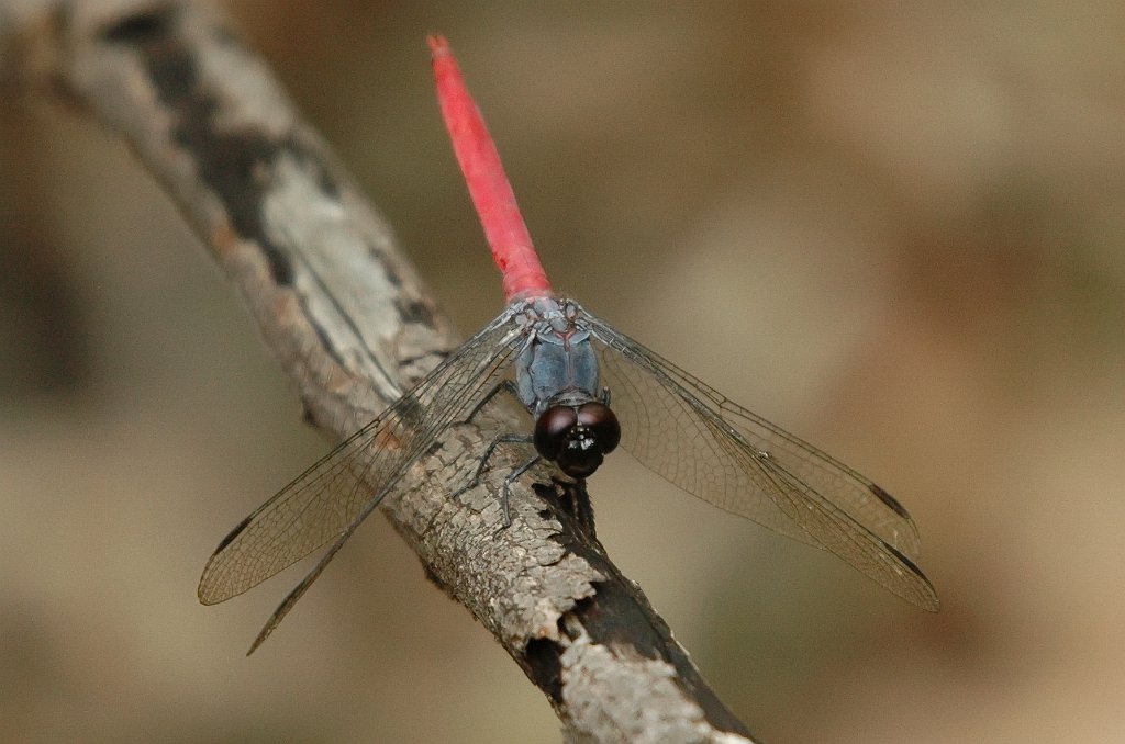
[[[245,299],[309,418],[335,438],[454,347],[386,223],[266,65],[206,12],[9,2],[0,61],[4,76],[65,96],[133,147]],[[543,690],[570,741],[749,741],[597,543],[584,492],[516,484],[507,529],[503,473],[450,498],[494,433],[453,427],[382,507],[431,579]]]

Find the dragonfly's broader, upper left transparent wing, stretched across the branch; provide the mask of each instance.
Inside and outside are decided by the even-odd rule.
[[[505,373],[521,334],[505,310],[374,421],[348,437],[227,535],[199,580],[214,605],[343,535],[458,415]],[[370,483],[381,483],[372,490]]]

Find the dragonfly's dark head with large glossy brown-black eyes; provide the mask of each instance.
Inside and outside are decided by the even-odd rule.
[[[595,400],[551,406],[536,421],[536,451],[570,478],[588,478],[621,441],[618,417]]]

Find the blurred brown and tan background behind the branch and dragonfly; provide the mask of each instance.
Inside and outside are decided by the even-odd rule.
[[[598,473],[603,543],[757,736],[1125,740],[1119,2],[223,9],[462,334],[500,281],[430,31],[557,287],[911,510],[937,615]],[[249,660],[300,571],[197,604],[328,444],[154,182],[54,105],[0,106],[0,740],[558,741],[381,517]]]

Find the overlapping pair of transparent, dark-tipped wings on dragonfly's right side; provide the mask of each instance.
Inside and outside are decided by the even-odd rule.
[[[600,348],[621,445],[720,509],[835,553],[891,592],[937,609],[915,564],[918,530],[886,491],[731,402],[582,310]]]

